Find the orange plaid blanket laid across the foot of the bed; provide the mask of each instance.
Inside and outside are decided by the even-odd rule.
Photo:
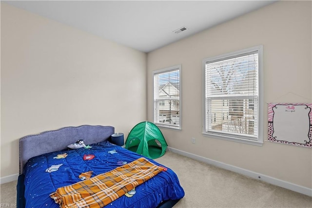
[[[139,158],[93,178],[59,187],[50,197],[61,208],[102,208],[162,170],[163,167]]]

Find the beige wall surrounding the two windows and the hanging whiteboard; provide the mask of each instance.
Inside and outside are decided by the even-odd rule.
[[[182,64],[182,130],[161,128],[168,145],[311,188],[312,149],[267,141],[268,102],[312,101],[311,3],[279,1],[148,53],[149,121],[153,121],[152,71]],[[263,146],[203,137],[202,60],[260,44],[264,47]]]

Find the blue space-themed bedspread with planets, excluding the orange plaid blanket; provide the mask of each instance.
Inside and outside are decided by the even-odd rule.
[[[58,204],[49,196],[57,188],[79,182],[89,175],[93,177],[110,171],[142,157],[107,141],[90,146],[90,149],[65,149],[30,159],[24,168],[26,208],[58,208]],[[154,160],[149,161],[162,166]],[[176,174],[167,168],[106,207],[154,208],[162,201],[181,199],[183,196],[184,190]]]

